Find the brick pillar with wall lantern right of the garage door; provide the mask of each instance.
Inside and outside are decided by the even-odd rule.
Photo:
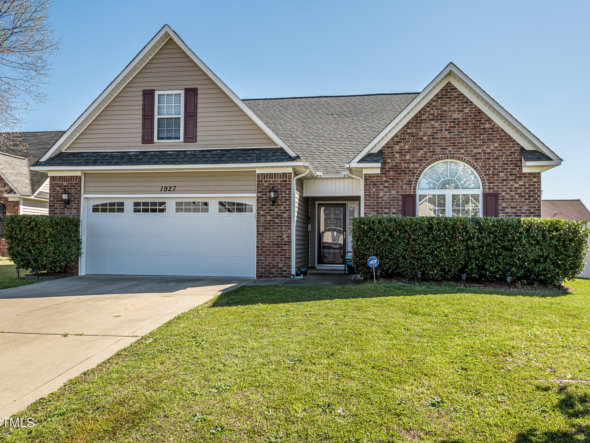
[[[256,174],[256,278],[291,276],[291,182],[291,172]]]

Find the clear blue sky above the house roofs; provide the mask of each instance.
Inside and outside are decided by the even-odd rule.
[[[543,199],[590,208],[590,2],[55,0],[51,102],[67,129],[164,24],[242,98],[418,92],[450,61],[555,151]]]

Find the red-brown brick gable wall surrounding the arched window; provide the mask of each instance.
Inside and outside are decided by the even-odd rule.
[[[383,146],[381,173],[365,175],[365,215],[401,216],[402,194],[442,159],[473,167],[483,192],[500,194],[500,217],[541,216],[540,172],[523,172],[520,145],[451,83]]]

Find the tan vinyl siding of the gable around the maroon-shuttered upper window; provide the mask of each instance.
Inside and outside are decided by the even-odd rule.
[[[197,87],[196,143],[141,143],[142,90]],[[172,39],[123,87],[66,151],[124,151],[276,146]]]

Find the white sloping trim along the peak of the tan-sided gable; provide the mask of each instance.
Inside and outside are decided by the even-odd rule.
[[[65,131],[65,133],[58,139],[51,149],[41,158],[41,161],[53,157],[59,152],[67,148],[71,142],[76,139],[78,135],[96,118],[97,115],[108,105],[111,100],[126,86],[127,83],[145,66],[146,63],[162,48],[163,44],[169,39],[175,41],[179,47],[201,68],[223,92],[225,92],[253,121],[262,129],[274,142],[283,148],[287,154],[295,156],[295,152],[285,144],[268,126],[255,115],[248,106],[235,95],[235,93],[217,77],[209,67],[195,55],[193,51],[182,41],[178,34],[174,32],[168,25],[164,25],[162,29],[156,34],[152,40],[137,54],[135,58],[129,63],[125,69],[113,80],[112,83],[97,97],[96,100],[87,108],[80,117]]]

